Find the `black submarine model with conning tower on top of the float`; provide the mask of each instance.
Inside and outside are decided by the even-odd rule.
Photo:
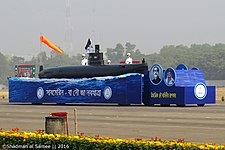
[[[99,52],[99,45],[95,45],[95,52],[88,53],[87,66],[60,66],[54,68],[40,67],[39,78],[90,78],[103,76],[117,76],[126,73],[144,74],[148,65],[144,59],[140,64],[104,64],[103,53]]]

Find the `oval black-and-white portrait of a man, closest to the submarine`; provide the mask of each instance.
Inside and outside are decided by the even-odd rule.
[[[158,85],[162,81],[163,69],[159,64],[154,64],[149,72],[149,79],[153,85]]]

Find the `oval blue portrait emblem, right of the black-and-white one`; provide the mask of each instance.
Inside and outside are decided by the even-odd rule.
[[[172,67],[169,67],[164,72],[164,83],[167,86],[173,86],[176,80],[176,72]]]

